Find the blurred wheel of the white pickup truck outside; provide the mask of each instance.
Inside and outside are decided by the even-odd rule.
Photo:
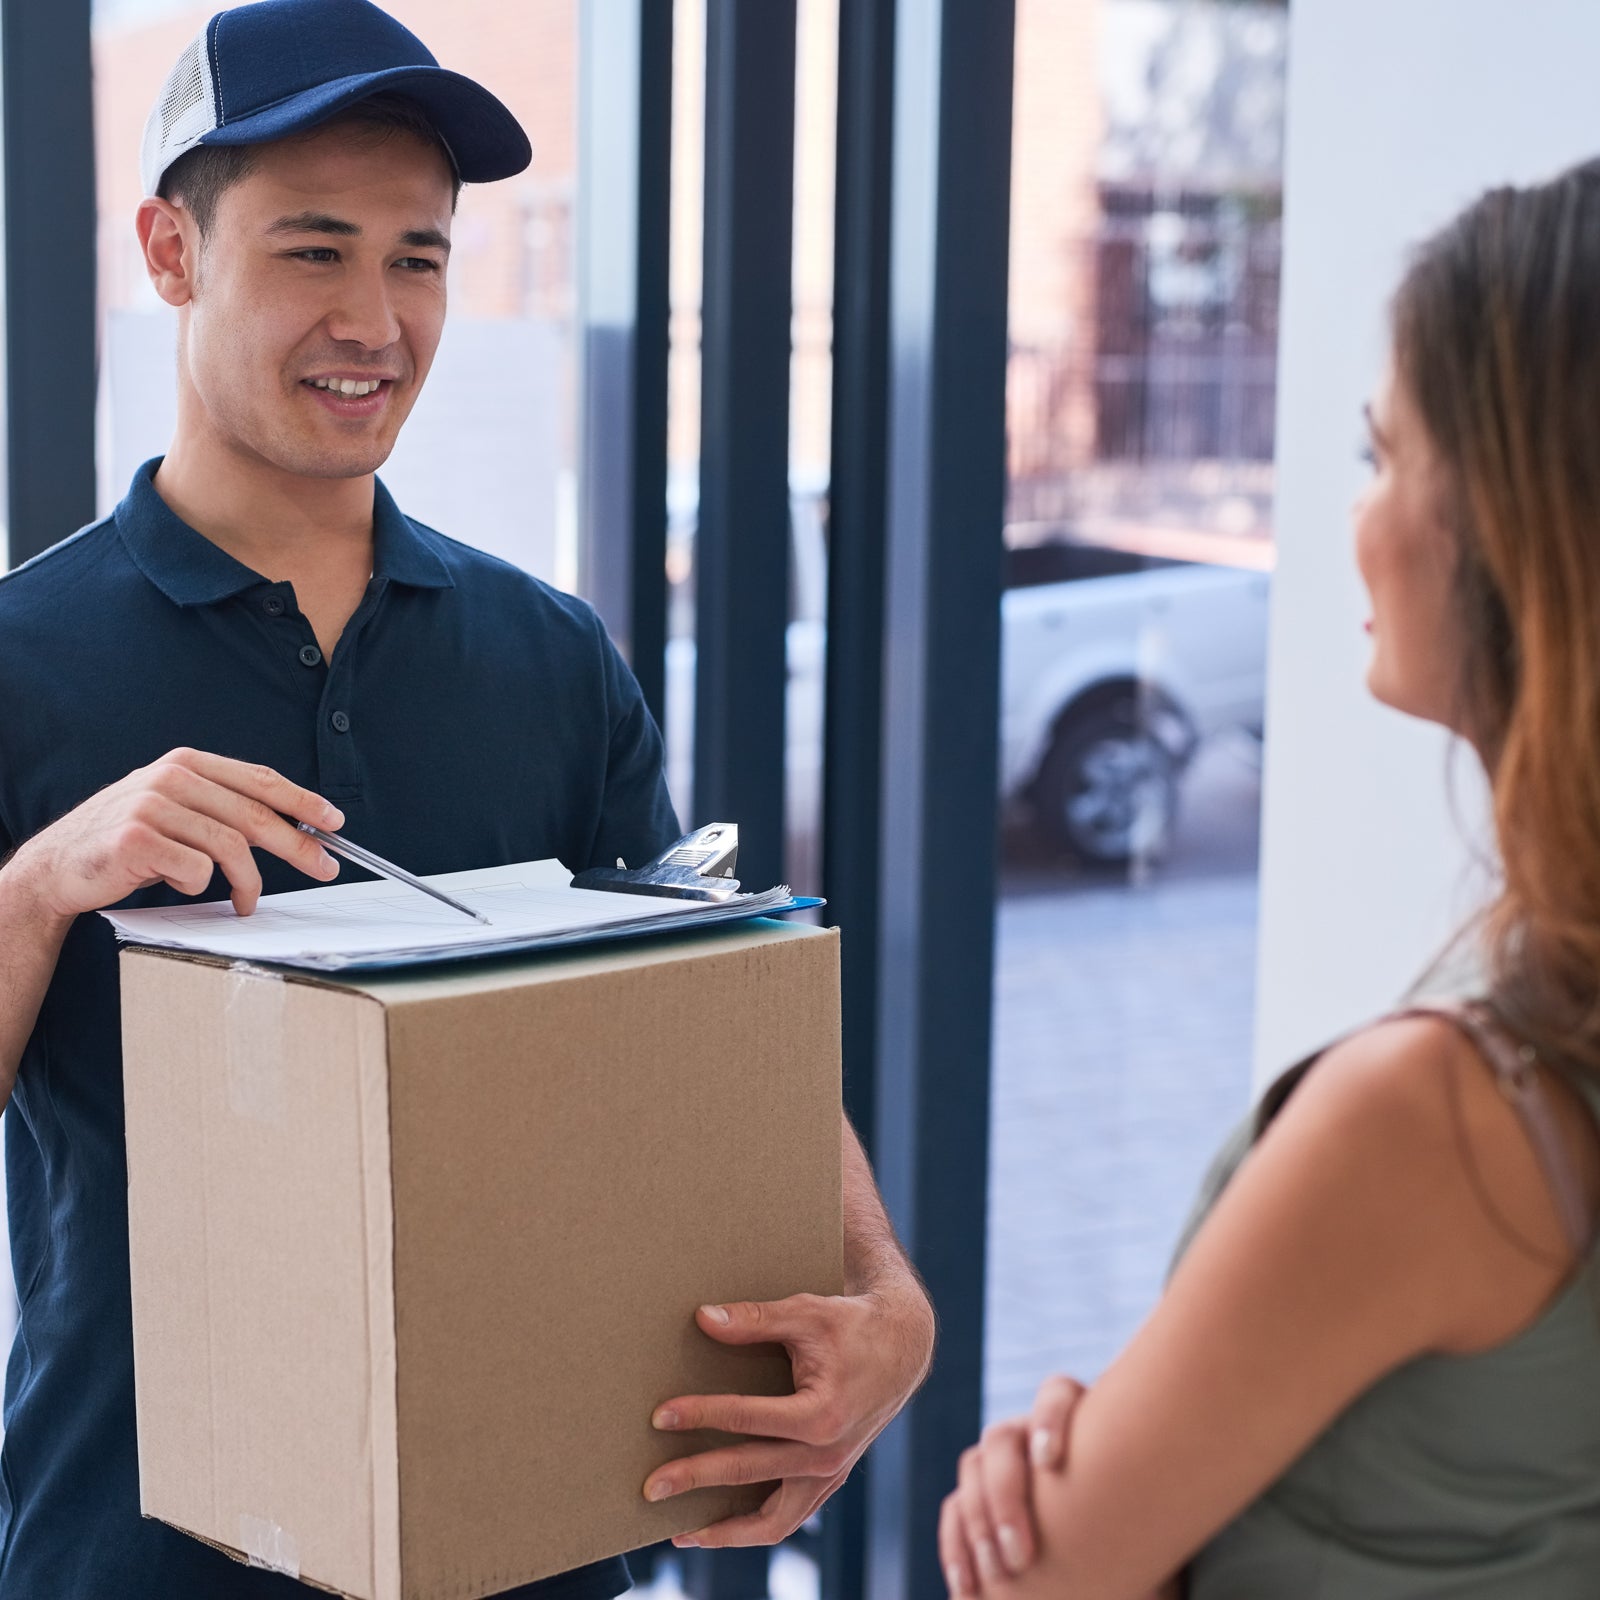
[[[1038,819],[1086,866],[1160,856],[1178,816],[1179,765],[1131,698],[1069,712],[1038,768]]]

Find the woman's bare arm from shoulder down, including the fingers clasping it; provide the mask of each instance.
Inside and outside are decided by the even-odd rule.
[[[1592,1190],[1594,1128],[1547,1086]],[[1571,1264],[1515,1112],[1450,1024],[1392,1021],[1338,1045],[1077,1403],[1066,1470],[1027,1469],[1032,1528],[1005,1488],[1026,1435],[1002,1426],[966,1453],[941,1522],[952,1587],[1146,1600],[1379,1378],[1502,1342]]]

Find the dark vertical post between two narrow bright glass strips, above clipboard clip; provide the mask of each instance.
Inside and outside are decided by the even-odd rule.
[[[784,859],[795,0],[707,0],[694,811]]]

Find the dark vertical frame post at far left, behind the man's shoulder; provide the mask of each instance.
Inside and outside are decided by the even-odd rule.
[[[94,518],[90,0],[0,6],[11,565]]]

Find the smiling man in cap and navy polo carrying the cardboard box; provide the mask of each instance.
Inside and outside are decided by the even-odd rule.
[[[230,894],[248,914],[333,878],[296,821],[421,872],[576,870],[677,832],[659,734],[589,606],[410,522],[374,478],[438,342],[456,189],[528,154],[366,0],[221,13],[152,114],[138,230],[178,309],[176,437],[110,517],[0,581],[21,1293],[0,1600],[302,1592],[139,1517],[117,960],[93,912]],[[792,1531],[926,1370],[930,1307],[842,1136],[850,1293],[699,1314],[710,1338],[786,1342],[797,1394],[653,1418],[757,1437],[661,1469],[650,1498],[778,1482],[698,1542]],[[517,1594],[626,1586],[610,1562]]]

